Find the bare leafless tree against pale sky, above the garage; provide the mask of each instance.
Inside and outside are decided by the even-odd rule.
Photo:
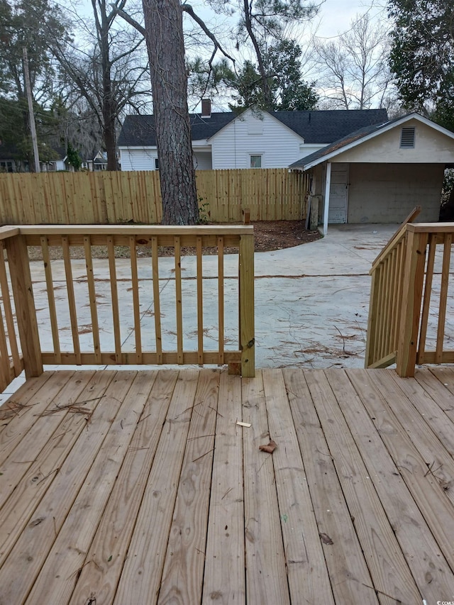
[[[318,83],[324,106],[342,109],[381,107],[391,86],[387,28],[368,13],[356,16],[351,28],[336,41],[316,40]]]

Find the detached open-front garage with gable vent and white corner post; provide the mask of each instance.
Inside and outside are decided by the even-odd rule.
[[[319,223],[399,223],[414,206],[419,221],[438,221],[445,167],[454,162],[454,133],[409,113],[360,128],[293,162],[310,171]]]

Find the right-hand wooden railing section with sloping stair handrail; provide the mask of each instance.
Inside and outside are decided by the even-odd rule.
[[[454,223],[406,224],[372,265],[366,367],[453,363],[447,323]]]

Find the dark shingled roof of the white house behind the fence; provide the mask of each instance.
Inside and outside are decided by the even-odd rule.
[[[333,109],[328,111],[269,111],[305,143],[331,143],[358,128],[387,121],[386,109]],[[238,118],[232,111],[214,112],[210,118],[190,113],[192,140],[208,139]],[[155,116],[126,116],[118,137],[120,147],[155,147]]]

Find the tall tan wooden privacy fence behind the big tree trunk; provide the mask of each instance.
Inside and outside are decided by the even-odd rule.
[[[306,216],[309,177],[285,168],[199,170],[201,219],[214,223],[297,220]],[[159,172],[0,174],[0,222],[156,224],[162,220]]]

